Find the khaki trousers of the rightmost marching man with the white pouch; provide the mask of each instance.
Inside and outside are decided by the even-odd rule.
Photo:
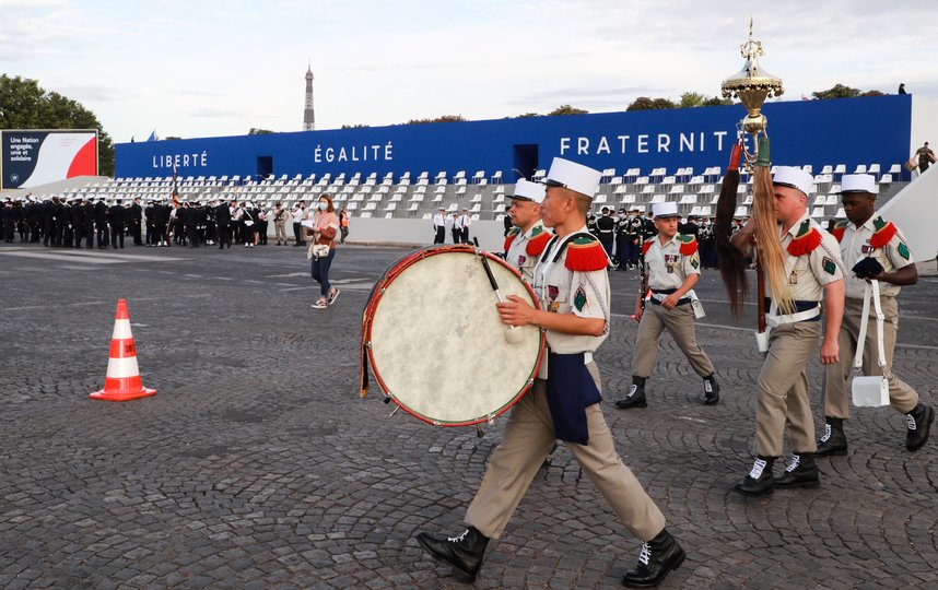
[[[886,353],[886,375],[889,381],[889,404],[899,412],[907,414],[918,404],[918,393],[908,384],[892,375],[892,353],[895,349],[895,334],[899,331],[899,305],[895,303],[895,297],[880,297],[880,304],[882,315],[886,316],[886,320],[882,323],[882,346]],[[821,389],[825,416],[839,418],[851,417],[847,380],[854,370],[854,355],[857,353],[859,322],[861,319],[863,299],[844,299],[844,319],[841,321],[841,331],[837,334],[841,362],[836,365],[826,366],[824,370],[824,385],[823,389]],[[876,340],[876,308],[872,302],[870,302],[866,344],[864,344],[863,351],[864,375],[883,374],[879,368],[879,352]]]

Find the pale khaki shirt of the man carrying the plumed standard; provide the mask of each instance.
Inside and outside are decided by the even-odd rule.
[[[782,249],[786,252],[805,220],[811,220],[807,212],[788,232],[782,234]],[[844,263],[841,260],[837,238],[813,221],[810,221],[810,224],[821,233],[821,244],[807,255],[797,257],[788,255],[785,261],[785,274],[788,276],[792,298],[799,302],[820,302],[824,296],[824,285],[844,278]],[[778,231],[782,231],[781,224]]]

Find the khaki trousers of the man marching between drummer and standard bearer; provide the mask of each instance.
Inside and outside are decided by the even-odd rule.
[[[649,302],[645,306],[645,312],[642,314],[642,321],[638,322],[638,341],[635,343],[635,354],[632,357],[634,377],[647,379],[652,375],[658,356],[658,339],[666,329],[697,375],[701,377],[713,375],[713,363],[697,345],[694,311],[690,304],[665,309]]]

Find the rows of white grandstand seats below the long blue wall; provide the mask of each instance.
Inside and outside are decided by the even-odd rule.
[[[858,170],[866,170],[877,176],[880,198],[878,205],[899,192],[907,182],[900,181],[901,166],[891,165],[886,174],[881,174],[878,164],[860,165]],[[669,174],[669,172],[671,174]],[[544,169],[537,170],[535,177],[543,179]],[[646,173],[646,174],[643,174]],[[594,208],[637,208],[642,211],[650,209],[653,203],[676,202],[682,215],[711,215],[715,211],[723,182],[719,167],[710,167],[702,172],[690,167],[675,170],[654,168],[641,170],[629,168],[602,170],[600,189],[594,199]],[[809,196],[811,216],[819,221],[831,219],[839,214],[840,178],[847,174],[843,164],[831,164],[821,167],[814,176],[814,186]],[[414,180],[413,182],[412,180]],[[748,215],[752,205],[750,194],[752,177],[742,174],[737,191],[737,215]],[[68,197],[103,197],[114,199],[141,198],[167,199],[173,191],[173,178],[114,178],[103,182],[92,182],[63,194]],[[468,176],[466,170],[448,170],[435,173],[420,172],[417,176],[406,172],[400,175],[387,173],[378,184],[377,174],[361,174],[347,176],[329,173],[317,177],[315,174],[274,176],[266,178],[256,175],[233,176],[186,176],[176,179],[180,199],[207,202],[211,199],[225,198],[248,200],[263,208],[272,208],[277,202],[292,205],[297,200],[313,200],[320,193],[333,196],[337,204],[344,204],[356,216],[424,217],[432,215],[443,206],[448,212],[462,208],[469,209],[474,219],[497,220],[504,215],[507,205],[506,185],[502,184],[501,172],[486,176],[484,170],[478,170]],[[468,190],[471,187],[472,190]],[[42,196],[39,196],[42,197]],[[842,215],[841,211],[841,215]]]

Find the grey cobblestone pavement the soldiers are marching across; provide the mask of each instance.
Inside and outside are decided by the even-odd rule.
[[[462,530],[504,421],[477,438],[388,417],[380,396],[356,392],[361,309],[402,253],[341,249],[343,293],[314,310],[300,248],[0,249],[0,587],[465,587],[413,535]],[[729,324],[708,272],[697,337],[724,401],[697,402],[701,381],[665,337],[649,406],[618,411],[635,273],[612,281],[603,411],[688,551],[663,588],[938,586],[938,440],[910,453],[901,415],[855,410],[851,452],[819,461],[819,489],[740,497],[730,488],[751,467],[760,367],[751,331]],[[935,288],[926,278],[905,290],[895,355],[929,403]],[[93,401],[120,297],[159,393]],[[817,403],[817,362],[809,371]],[[615,588],[638,548],[561,446],[476,586]]]

